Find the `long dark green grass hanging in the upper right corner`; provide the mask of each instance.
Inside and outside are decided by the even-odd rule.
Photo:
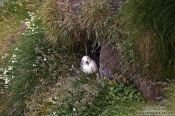
[[[126,4],[125,13],[128,13],[131,24],[129,30],[133,33],[136,43],[139,43],[137,45],[144,46],[140,54],[143,56],[143,62],[149,65],[151,73],[155,74],[152,77],[172,78],[175,65],[175,2],[128,0]]]

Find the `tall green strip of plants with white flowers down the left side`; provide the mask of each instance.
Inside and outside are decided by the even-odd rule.
[[[37,18],[32,20],[21,41],[11,50],[7,62],[4,62],[11,67],[4,75],[9,80],[9,83],[6,83],[7,91],[13,93],[8,110],[15,107],[16,114],[24,110],[24,99],[33,92],[38,82],[33,67],[36,60],[35,46],[44,37],[43,28],[38,25],[40,21]]]

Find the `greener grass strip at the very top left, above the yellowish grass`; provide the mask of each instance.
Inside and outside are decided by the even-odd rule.
[[[18,22],[29,18],[28,11],[36,12],[42,3],[43,0],[5,0],[3,1],[3,6],[1,6],[0,21],[7,19],[9,20],[10,18],[14,17],[15,21]]]

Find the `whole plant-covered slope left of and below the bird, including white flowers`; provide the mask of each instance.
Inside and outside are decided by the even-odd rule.
[[[8,64],[3,70],[7,70],[4,91],[13,94],[2,115],[122,116],[136,111],[133,101],[144,102],[133,86],[99,83],[94,76],[82,74],[77,54],[61,46],[51,47],[38,23],[31,22],[4,62]]]

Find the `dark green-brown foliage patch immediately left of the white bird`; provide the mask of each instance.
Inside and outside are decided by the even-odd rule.
[[[53,46],[46,39],[38,42],[35,51],[35,72],[37,76],[46,79],[47,83],[55,83],[60,76],[66,78],[77,72],[80,52],[75,54],[64,46]]]

